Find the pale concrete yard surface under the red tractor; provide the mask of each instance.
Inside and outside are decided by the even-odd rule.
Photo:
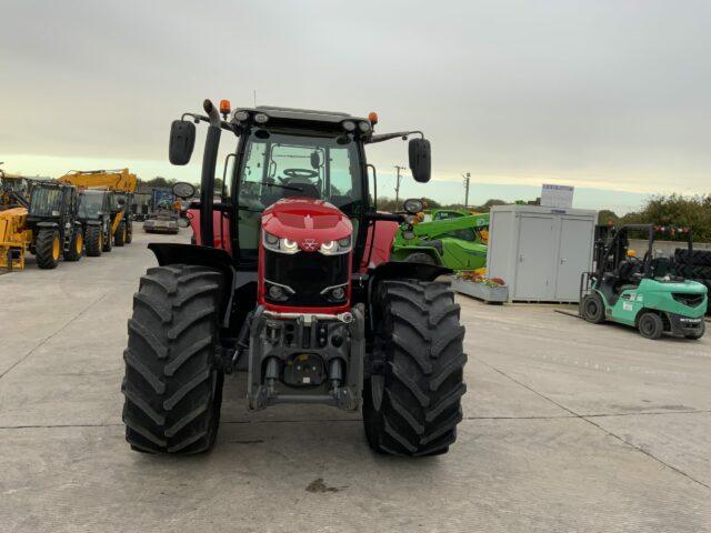
[[[252,414],[226,381],[214,450],[132,452],[120,384],[146,235],[0,275],[0,531],[711,531],[711,338],[647,341],[552,306],[460,298],[450,453],[373,454],[360,415]]]

